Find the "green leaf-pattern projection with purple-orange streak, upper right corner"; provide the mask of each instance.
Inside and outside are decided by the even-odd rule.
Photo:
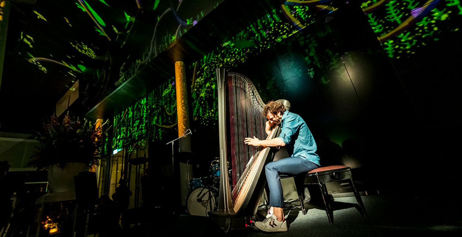
[[[459,0],[368,0],[361,7],[389,58],[410,58],[418,49],[459,30]]]

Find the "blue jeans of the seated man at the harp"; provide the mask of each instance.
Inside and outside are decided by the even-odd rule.
[[[280,182],[280,174],[300,174],[319,168],[319,165],[298,156],[269,162],[265,166],[266,180],[269,187],[269,205],[284,208],[284,196]]]

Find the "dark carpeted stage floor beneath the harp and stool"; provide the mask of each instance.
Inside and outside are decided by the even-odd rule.
[[[252,228],[224,233],[209,217],[154,215],[153,223],[118,231],[118,236],[183,237],[462,237],[462,203],[458,196],[412,197],[375,194],[362,196],[367,216],[356,209],[354,197],[334,198],[334,223],[322,206],[305,204],[286,211],[287,232],[264,233]],[[298,204],[298,203],[295,203]],[[155,217],[157,216],[157,217]]]

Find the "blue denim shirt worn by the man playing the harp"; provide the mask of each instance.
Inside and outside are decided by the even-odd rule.
[[[317,146],[310,129],[298,114],[284,112],[279,137],[286,143],[290,156],[299,156],[319,165]]]

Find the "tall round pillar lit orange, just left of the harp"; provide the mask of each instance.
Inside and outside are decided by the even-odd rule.
[[[175,85],[176,85],[176,114],[178,116],[178,136],[182,136],[189,129],[189,110],[188,110],[188,91],[186,87],[186,68],[184,63],[175,63]],[[178,140],[180,152],[191,152],[191,136],[185,136]],[[188,178],[192,178],[192,166],[190,164],[179,163],[181,201],[186,205],[188,196]]]

